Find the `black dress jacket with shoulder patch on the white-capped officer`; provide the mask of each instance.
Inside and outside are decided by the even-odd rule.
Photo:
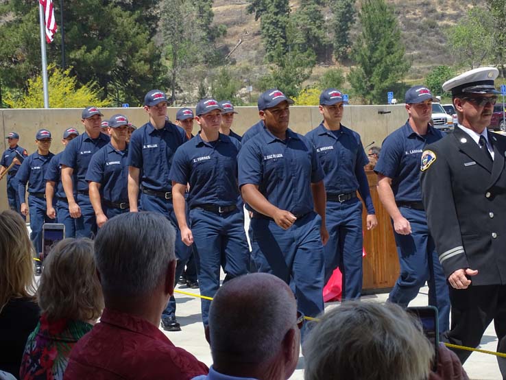
[[[506,284],[506,137],[489,133],[490,161],[460,128],[422,154],[422,198],[446,277],[471,268],[473,285]]]

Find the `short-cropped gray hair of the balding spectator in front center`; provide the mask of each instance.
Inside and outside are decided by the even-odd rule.
[[[210,349],[215,363],[265,363],[278,353],[297,305],[288,285],[267,273],[225,283],[209,310]],[[296,327],[295,327],[296,328]]]

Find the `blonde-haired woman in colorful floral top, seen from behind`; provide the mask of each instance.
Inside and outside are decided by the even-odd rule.
[[[21,379],[63,379],[75,343],[104,309],[93,241],[64,239],[44,261],[37,290],[41,316],[29,335]]]

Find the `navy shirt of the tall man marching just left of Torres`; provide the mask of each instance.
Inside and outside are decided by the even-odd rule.
[[[145,123],[134,130],[128,147],[128,165],[141,169],[139,183],[154,191],[171,191],[169,171],[174,153],[188,141],[184,129],[167,121],[160,130]]]

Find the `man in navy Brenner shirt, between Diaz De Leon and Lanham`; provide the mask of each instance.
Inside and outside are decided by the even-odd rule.
[[[341,125],[343,95],[327,88],[320,95],[320,126],[306,134],[313,143],[325,172],[327,192],[326,226],[328,243],[324,246],[325,283],[339,266],[343,274],[342,298],[360,298],[362,292],[362,202],[368,209],[367,228],[376,227],[372,198],[364,165],[369,163],[357,132]]]

